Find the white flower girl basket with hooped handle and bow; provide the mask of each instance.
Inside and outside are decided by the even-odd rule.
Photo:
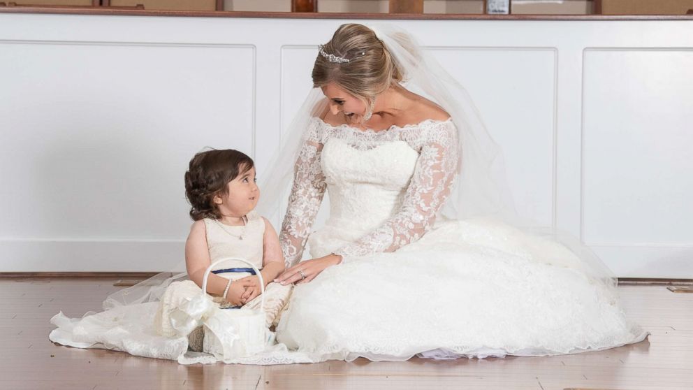
[[[242,261],[255,271],[261,288],[259,309],[222,309],[215,305],[212,297],[207,294],[207,279],[212,268],[228,260]],[[205,301],[203,305],[208,308],[205,310],[207,315],[203,324],[216,336],[215,340],[205,340],[205,345],[210,346],[205,352],[214,354],[217,360],[229,361],[257,354],[270,342],[271,333],[265,326],[265,283],[260,270],[250,261],[238,257],[225,257],[214,261],[205,270],[200,299]]]

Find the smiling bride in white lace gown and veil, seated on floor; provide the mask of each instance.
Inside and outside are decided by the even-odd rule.
[[[502,155],[472,99],[411,36],[344,24],[319,48],[312,77],[258,208],[275,214],[291,188],[279,235],[287,269],[275,282],[296,286],[277,342],[226,363],[555,355],[648,335],[620,308],[597,257],[516,215]],[[326,192],[330,216],[314,226]],[[312,259],[301,261],[306,248]],[[59,317],[52,335],[213,362],[181,359],[143,323],[142,303],[184,277],[113,294],[96,327]],[[101,344],[78,342],[78,327]]]

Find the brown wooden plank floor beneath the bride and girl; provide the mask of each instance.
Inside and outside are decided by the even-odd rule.
[[[113,282],[0,279],[0,389],[693,389],[693,294],[666,287],[620,287],[649,340],[554,357],[180,366],[48,340],[52,315],[99,310]]]

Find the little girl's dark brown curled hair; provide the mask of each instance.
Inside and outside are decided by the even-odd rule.
[[[228,194],[228,182],[255,166],[253,159],[238,150],[207,150],[195,154],[185,173],[185,197],[191,205],[190,217],[219,219],[214,196]]]

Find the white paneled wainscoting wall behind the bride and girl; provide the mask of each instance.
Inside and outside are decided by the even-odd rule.
[[[0,271],[180,265],[190,157],[262,175],[343,22],[0,14]],[[523,215],[620,277],[693,277],[693,22],[397,24],[469,89]]]

